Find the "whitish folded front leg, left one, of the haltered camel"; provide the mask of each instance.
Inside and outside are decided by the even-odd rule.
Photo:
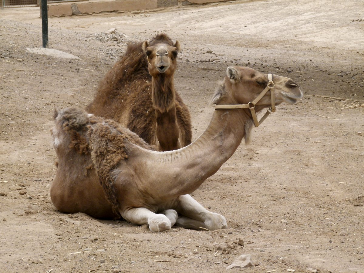
[[[177,212],[165,210],[162,213],[156,214],[145,207],[134,207],[120,214],[128,222],[136,225],[149,225],[151,231],[162,232],[171,229],[177,219]]]

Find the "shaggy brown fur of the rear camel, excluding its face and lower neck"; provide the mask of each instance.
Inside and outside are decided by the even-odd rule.
[[[165,34],[153,37],[149,41],[149,46],[161,43],[173,46],[172,40]],[[154,85],[158,85],[163,92],[155,93],[142,43],[131,43],[128,45],[126,53],[120,57],[100,82],[97,94],[86,107],[86,111],[116,120],[122,126],[138,134],[147,143],[156,145],[155,109],[164,113],[175,104],[181,145],[189,145],[192,138],[190,113],[181,97],[175,93],[174,89],[171,90],[168,87],[170,82],[166,80],[166,75],[160,75]],[[166,126],[168,125],[166,124]]]

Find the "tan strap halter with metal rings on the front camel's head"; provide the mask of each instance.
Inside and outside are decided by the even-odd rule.
[[[263,98],[263,96],[270,90],[270,100],[272,103],[272,107],[270,107],[264,116],[258,121],[257,114],[255,112],[255,105],[258,101]],[[218,104],[215,106],[215,110],[217,109],[242,109],[242,108],[249,108],[250,112],[252,113],[252,118],[254,120],[254,126],[258,127],[266,118],[269,116],[270,113],[276,111],[276,97],[274,96],[274,83],[273,83],[273,76],[272,74],[268,74],[268,84],[264,88],[264,90],[252,101],[248,104]]]

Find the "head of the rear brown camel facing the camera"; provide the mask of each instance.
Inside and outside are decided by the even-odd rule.
[[[159,34],[150,42],[144,41],[142,49],[148,58],[148,70],[151,76],[174,74],[177,68],[177,54],[181,52],[181,46],[176,41],[174,44],[165,34]]]

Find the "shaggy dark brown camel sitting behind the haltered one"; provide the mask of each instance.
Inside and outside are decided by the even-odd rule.
[[[165,34],[131,43],[100,82],[86,111],[114,119],[160,151],[191,143],[191,117],[174,88],[179,42]],[[148,72],[149,71],[149,72]]]

